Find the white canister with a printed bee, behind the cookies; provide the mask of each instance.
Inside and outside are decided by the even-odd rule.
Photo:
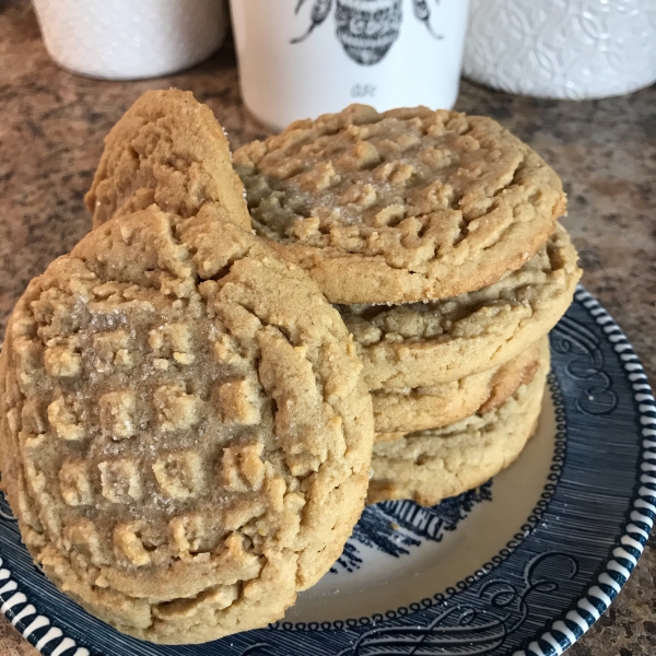
[[[355,102],[450,108],[467,0],[231,0],[242,95],[262,122]]]

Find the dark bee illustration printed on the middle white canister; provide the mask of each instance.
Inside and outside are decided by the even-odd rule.
[[[297,14],[306,0],[298,0],[294,13]],[[411,0],[414,17],[421,21],[429,33],[437,39],[444,38],[431,27],[431,9],[427,0]],[[356,63],[373,66],[378,63],[399,36],[403,13],[402,0],[336,0],[335,24],[337,38],[347,55]],[[435,0],[440,4],[440,0]],[[315,27],[326,21],[332,9],[332,0],[314,0],[312,23],[303,36],[290,43],[305,40]]]

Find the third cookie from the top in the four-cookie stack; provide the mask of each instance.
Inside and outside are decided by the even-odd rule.
[[[532,344],[505,364],[432,387],[378,389],[372,393],[376,442],[395,438],[389,433],[438,429],[477,413],[487,414],[505,402],[520,385],[536,374],[540,348],[547,338]]]

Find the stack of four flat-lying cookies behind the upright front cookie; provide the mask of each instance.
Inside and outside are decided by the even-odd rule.
[[[362,105],[234,165],[257,233],[358,344],[376,430],[367,501],[433,505],[509,465],[581,276],[557,174],[489,118]]]

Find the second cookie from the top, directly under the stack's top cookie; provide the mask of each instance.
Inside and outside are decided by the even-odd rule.
[[[395,307],[340,305],[370,389],[458,380],[515,358],[572,303],[577,257],[559,224],[518,271],[477,292]]]

